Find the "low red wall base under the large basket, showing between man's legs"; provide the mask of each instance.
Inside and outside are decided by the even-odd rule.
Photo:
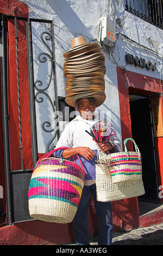
[[[90,202],[89,234],[98,235],[94,206]],[[15,223],[0,229],[0,245],[63,245],[74,242],[72,223],[42,221]]]

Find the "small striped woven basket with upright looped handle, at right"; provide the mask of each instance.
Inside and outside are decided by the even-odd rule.
[[[127,151],[126,143],[128,140],[134,143],[136,152]],[[99,157],[110,167],[112,182],[142,180],[141,153],[134,139],[127,138],[124,140],[124,150],[124,152],[109,155],[99,153],[101,154]]]

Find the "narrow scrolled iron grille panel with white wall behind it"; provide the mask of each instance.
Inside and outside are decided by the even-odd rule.
[[[29,20],[28,41],[31,41],[32,45],[29,45],[28,57],[29,63],[33,64],[33,74],[30,77],[32,87],[30,103],[32,105],[35,101],[33,119],[36,120],[35,147],[37,146],[38,153],[53,150],[60,135],[53,29],[53,21]]]

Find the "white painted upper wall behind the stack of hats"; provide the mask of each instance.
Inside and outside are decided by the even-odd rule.
[[[87,42],[99,38],[99,19],[108,16],[112,20],[121,18],[122,26],[116,25],[116,32],[128,36],[140,45],[118,36],[111,54],[102,50],[105,56],[105,93],[106,100],[97,111],[111,111],[111,122],[121,140],[120,107],[118,101],[116,66],[129,71],[162,79],[163,37],[162,30],[125,11],[124,0],[24,0],[29,6],[30,17],[53,20],[55,36],[55,60],[57,71],[58,95],[65,96],[64,57],[71,50],[74,36],[84,35]],[[38,41],[39,44],[39,41]],[[147,50],[144,46],[153,51]],[[157,70],[141,69],[139,66],[126,65],[126,53],[156,62]],[[39,118],[40,109],[37,109]],[[45,153],[42,143],[45,136],[38,129],[39,153]]]

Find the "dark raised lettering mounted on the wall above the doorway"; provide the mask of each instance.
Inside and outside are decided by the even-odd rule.
[[[126,63],[134,64],[135,66],[140,66],[140,68],[146,68],[147,70],[155,71],[156,70],[156,62],[151,62],[151,60],[145,60],[143,58],[139,58],[137,56],[133,56],[133,54],[126,54]]]

